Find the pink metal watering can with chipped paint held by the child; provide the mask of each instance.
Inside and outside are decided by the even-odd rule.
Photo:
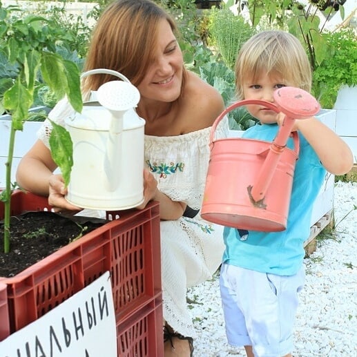
[[[294,150],[286,147],[296,119],[318,113],[320,105],[305,90],[283,87],[274,92],[276,104],[246,99],[232,104],[215,119],[209,146],[211,159],[206,177],[201,216],[209,222],[253,231],[283,231],[298,160],[298,133]],[[238,106],[258,104],[284,113],[273,142],[231,137],[213,139],[224,116]]]

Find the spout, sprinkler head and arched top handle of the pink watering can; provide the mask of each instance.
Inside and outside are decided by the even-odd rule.
[[[282,112],[285,114],[278,134],[271,143],[269,153],[264,160],[264,164],[260,169],[257,180],[252,186],[249,186],[249,195],[252,202],[259,203],[264,199],[273,174],[276,171],[276,166],[278,165],[280,154],[282,151],[284,151],[284,147],[287,144],[287,140],[289,139],[295,120],[307,119],[318,113],[320,110],[320,104],[318,104],[317,100],[305,90],[300,88],[282,87],[274,92],[273,97],[276,104],[258,99],[244,99],[240,102],[236,102],[235,104],[232,104],[226,108],[226,110],[224,110],[220,116],[215,119],[215,122],[211,128],[209,142],[210,147],[213,144],[213,136],[218,123],[227,113],[235,108],[238,108],[238,106],[258,104],[265,108],[274,110],[276,113]]]

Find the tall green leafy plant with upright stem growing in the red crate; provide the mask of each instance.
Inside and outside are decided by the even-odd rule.
[[[10,250],[10,197],[17,186],[11,182],[15,134],[23,130],[23,122],[30,116],[35,83],[39,76],[48,84],[57,100],[67,95],[73,108],[81,112],[79,68],[73,61],[64,59],[56,52],[58,41],[64,44],[66,40],[71,41],[70,35],[59,28],[57,23],[37,15],[26,15],[18,6],[4,8],[0,2],[0,48],[11,66],[6,81],[3,81],[9,88],[3,93],[0,102],[0,112],[9,113],[12,117],[6,162],[6,189],[0,195],[5,207],[5,253]],[[55,128],[50,142],[55,140],[52,136],[63,138],[64,135],[66,133]],[[68,155],[67,148],[63,148],[62,143],[61,139],[57,139],[55,151]]]

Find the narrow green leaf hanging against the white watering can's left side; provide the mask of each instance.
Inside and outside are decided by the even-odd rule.
[[[73,166],[73,142],[70,133],[66,128],[52,122],[50,135],[50,150],[55,163],[59,166],[64,177],[64,184],[68,186],[70,182],[70,171]]]

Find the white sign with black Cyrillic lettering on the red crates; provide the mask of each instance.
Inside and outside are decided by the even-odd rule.
[[[58,307],[0,342],[0,357],[117,357],[107,271]]]

